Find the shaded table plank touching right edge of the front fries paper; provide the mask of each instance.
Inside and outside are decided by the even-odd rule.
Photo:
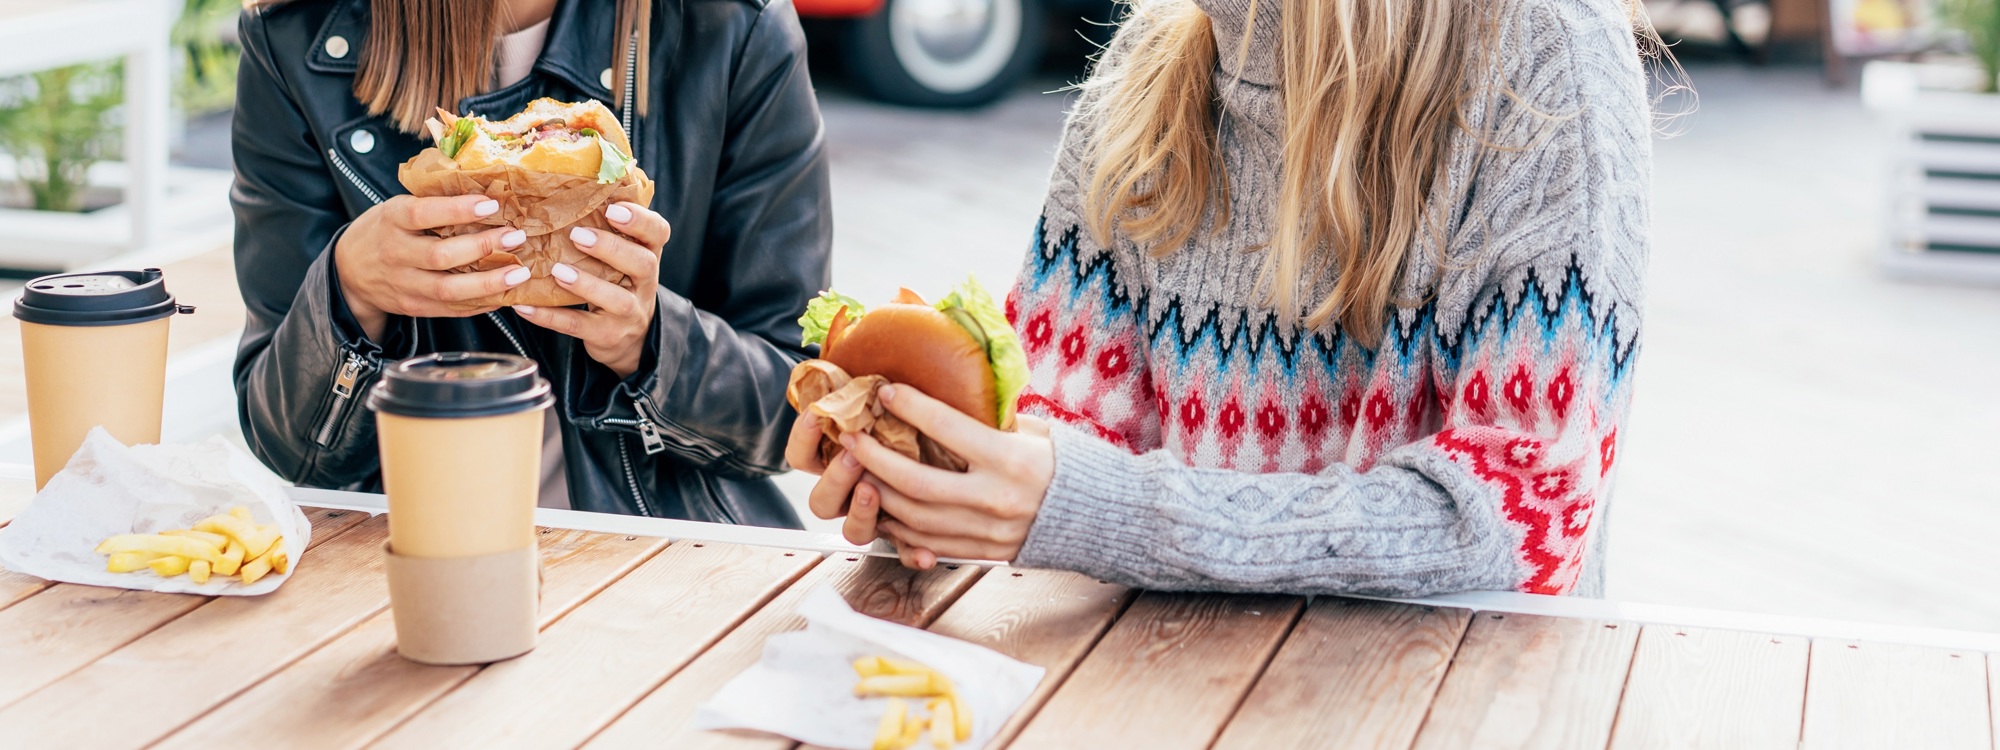
[[[1006,748],[1028,726],[1134,596],[1130,588],[1074,572],[990,570],[930,624],[932,632],[1048,670],[988,748]]]

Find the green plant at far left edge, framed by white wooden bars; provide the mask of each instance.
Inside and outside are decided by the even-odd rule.
[[[106,116],[124,100],[124,66],[76,64],[0,80],[0,150],[38,210],[82,210],[90,164],[118,154]]]

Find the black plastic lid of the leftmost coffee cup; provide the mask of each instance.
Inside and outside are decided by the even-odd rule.
[[[158,268],[42,276],[14,300],[14,318],[48,326],[124,326],[194,312],[174,304]]]

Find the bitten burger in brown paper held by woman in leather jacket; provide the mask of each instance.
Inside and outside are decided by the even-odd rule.
[[[464,310],[508,304],[572,306],[584,300],[550,276],[570,264],[578,272],[622,284],[624,274],[570,242],[570,228],[612,232],[604,206],[652,204],[652,180],[632,158],[632,142],[612,110],[600,102],[564,104],[538,98],[506,120],[454,116],[438,110],[428,122],[436,146],[412,156],[396,172],[412,196],[480,194],[500,202],[500,212],[478,224],[432,230],[436,236],[512,226],[528,242],[498,250],[454,272],[526,266],[532,276],[506,292],[454,304]]]

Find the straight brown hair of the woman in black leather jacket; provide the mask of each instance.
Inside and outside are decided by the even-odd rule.
[[[250,0],[246,6],[280,2]],[[460,100],[492,86],[494,40],[506,22],[496,0],[368,0],[368,42],[354,76],[354,98],[368,106],[368,114],[384,114],[396,130],[414,134],[422,132],[434,108],[456,110]],[[618,0],[614,28],[612,108],[626,106],[624,78],[632,68],[636,110],[644,116],[652,0]]]

